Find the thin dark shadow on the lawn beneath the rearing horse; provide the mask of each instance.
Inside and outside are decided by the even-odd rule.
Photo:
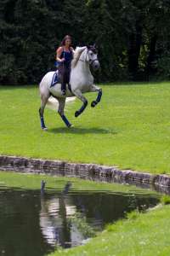
[[[104,128],[82,128],[82,127],[56,127],[48,129],[50,133],[66,133],[66,134],[116,134],[116,131]]]

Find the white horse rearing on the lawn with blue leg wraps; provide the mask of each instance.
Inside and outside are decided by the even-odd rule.
[[[47,130],[43,119],[43,113],[50,96],[54,96],[54,98],[58,100],[58,113],[67,127],[71,127],[71,123],[66,119],[64,113],[65,102],[69,102],[69,99],[66,99],[66,97],[77,96],[77,98],[83,102],[82,108],[76,111],[75,117],[79,116],[88,105],[87,99],[82,95],[83,93],[98,91],[98,96],[96,100],[91,103],[91,107],[94,108],[100,102],[102,90],[94,84],[94,77],[90,72],[89,65],[92,65],[94,70],[99,68],[99,60],[95,47],[77,47],[74,53],[74,58],[71,61],[71,79],[70,84],[67,84],[65,96],[61,93],[61,84],[58,83],[51,86],[54,72],[48,72],[42,78],[39,85],[41,96],[41,108],[39,109],[39,114],[42,130]]]

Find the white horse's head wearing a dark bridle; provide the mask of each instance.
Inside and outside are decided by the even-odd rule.
[[[90,65],[94,68],[94,70],[99,69],[99,60],[98,60],[98,50],[94,45],[87,46],[87,58],[86,60],[89,62]]]

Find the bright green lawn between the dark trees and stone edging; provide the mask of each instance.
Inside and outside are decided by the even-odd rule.
[[[170,173],[170,84],[105,85],[103,98],[77,119],[78,100],[66,115],[46,108],[41,131],[37,86],[0,86],[0,154],[93,162],[153,173]],[[95,94],[88,94],[90,103]]]

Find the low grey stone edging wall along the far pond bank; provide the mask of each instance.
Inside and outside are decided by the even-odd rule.
[[[0,170],[26,173],[43,173],[67,177],[97,179],[106,182],[148,184],[156,188],[170,188],[170,176],[119,170],[115,166],[68,163],[62,160],[41,160],[0,155]],[[165,190],[165,189],[164,189]]]

